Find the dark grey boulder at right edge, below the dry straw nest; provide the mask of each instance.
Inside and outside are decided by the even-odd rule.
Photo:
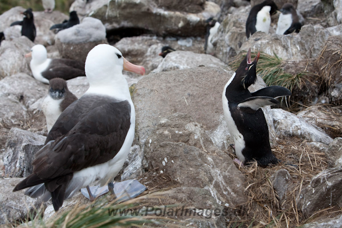
[[[297,207],[309,218],[314,212],[337,205],[342,206],[342,167],[329,168],[312,177],[302,190]]]

